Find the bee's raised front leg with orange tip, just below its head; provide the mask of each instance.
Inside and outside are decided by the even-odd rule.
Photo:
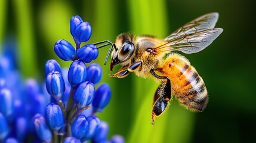
[[[131,66],[128,67],[128,69],[125,69],[125,70],[122,70],[124,69],[125,67],[127,66],[123,66],[119,71],[118,73],[115,73],[115,74],[109,74],[110,77],[118,77],[118,78],[124,78],[126,76],[128,76],[128,74],[130,72],[133,72],[135,69],[137,69],[140,65],[141,65],[141,61],[137,62],[137,63],[134,63],[132,64]]]

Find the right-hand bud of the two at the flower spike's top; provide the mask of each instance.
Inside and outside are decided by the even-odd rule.
[[[88,22],[82,22],[77,27],[73,34],[76,42],[87,42],[91,38],[91,25]]]

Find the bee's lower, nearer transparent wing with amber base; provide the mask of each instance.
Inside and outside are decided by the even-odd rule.
[[[201,32],[192,33],[175,39],[175,41],[166,42],[164,45],[158,46],[154,49],[154,53],[161,52],[169,53],[171,51],[181,51],[186,54],[192,54],[202,51],[206,46],[210,45],[220,33],[223,32],[221,28],[214,28],[203,30]]]

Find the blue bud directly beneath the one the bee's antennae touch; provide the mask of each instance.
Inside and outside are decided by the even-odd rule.
[[[94,85],[100,82],[102,77],[102,68],[99,64],[92,63],[87,68],[86,81],[92,82]]]

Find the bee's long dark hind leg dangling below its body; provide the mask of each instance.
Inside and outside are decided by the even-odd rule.
[[[158,86],[153,99],[151,119],[152,124],[155,124],[155,116],[160,116],[169,106],[169,100],[171,100],[171,80],[167,76],[159,76],[154,70],[151,70],[150,73],[158,79],[166,79],[166,82],[162,82]]]

